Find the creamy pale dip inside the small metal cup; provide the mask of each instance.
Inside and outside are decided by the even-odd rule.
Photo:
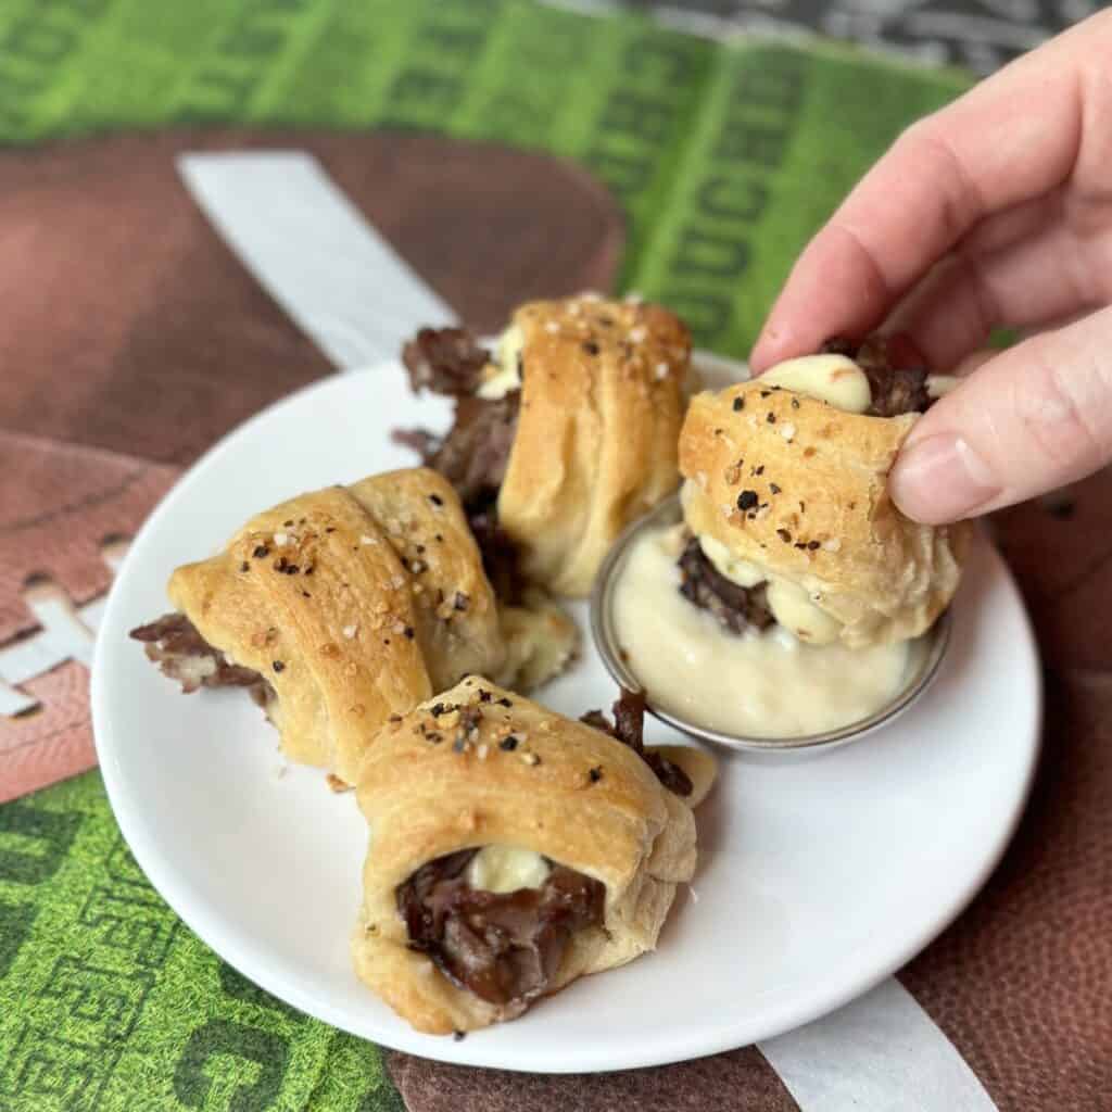
[[[678,590],[675,527],[638,537],[614,589],[614,623],[653,703],[748,737],[792,737],[865,718],[903,686],[907,642],[851,649],[804,645],[787,629],[733,634]]]

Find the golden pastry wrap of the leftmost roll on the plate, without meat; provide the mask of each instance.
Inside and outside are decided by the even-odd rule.
[[[210,645],[268,681],[282,752],[348,783],[390,714],[506,654],[459,500],[426,468],[275,506],[217,556],[179,567],[169,595]]]

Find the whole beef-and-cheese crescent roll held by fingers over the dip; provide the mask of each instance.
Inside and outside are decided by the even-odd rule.
[[[692,400],[679,437],[692,600],[714,609],[717,575],[744,593],[725,607],[751,610],[743,625],[851,648],[917,637],[949,605],[970,525],[912,522],[887,490],[942,380],[881,366],[868,342],[857,360],[843,346]]]

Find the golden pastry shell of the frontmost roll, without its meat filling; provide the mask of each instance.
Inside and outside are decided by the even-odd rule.
[[[470,1031],[522,1010],[481,999],[410,947],[398,890],[429,862],[515,846],[605,885],[600,925],[572,937],[548,991],[652,950],[695,868],[691,808],[633,749],[474,677],[387,724],[357,794],[370,842],[356,971],[418,1031]]]

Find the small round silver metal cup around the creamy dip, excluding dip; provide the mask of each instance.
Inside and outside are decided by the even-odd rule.
[[[590,596],[590,633],[595,638],[595,645],[603,663],[606,665],[606,671],[622,686],[634,691],[639,689],[643,685],[636,674],[631,671],[629,665],[622,658],[614,623],[614,588],[622,576],[626,554],[634,539],[646,530],[675,525],[682,516],[679,496],[673,495],[661,503],[652,513],[634,522],[618,538],[604,560]],[[653,698],[652,691],[645,693],[646,705],[649,714],[677,729],[682,729],[685,734],[732,749],[772,753],[833,748],[836,745],[846,745],[880,729],[882,726],[887,726],[923,695],[937,675],[942,658],[946,654],[946,648],[950,645],[950,613],[946,612],[925,634],[912,643],[903,685],[884,706],[866,718],[847,723],[836,729],[827,729],[821,734],[788,737],[739,736],[681,718],[674,712],[658,706]]]

